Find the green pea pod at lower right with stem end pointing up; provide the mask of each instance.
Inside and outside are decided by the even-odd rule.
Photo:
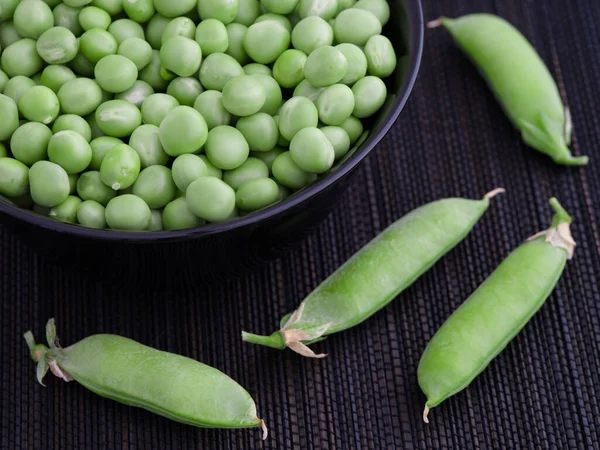
[[[527,324],[573,256],[571,217],[555,198],[552,226],[512,252],[442,325],[417,376],[430,408],[465,389]]]

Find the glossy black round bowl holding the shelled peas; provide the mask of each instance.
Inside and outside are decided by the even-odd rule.
[[[330,212],[350,175],[395,123],[413,88],[423,48],[420,0],[390,0],[385,34],[404,64],[386,80],[389,99],[370,124],[369,137],[327,176],[285,201],[226,223],[193,230],[126,233],[69,225],[0,199],[0,220],[44,257],[101,277],[148,279],[152,273],[193,274],[208,280],[274,259]]]

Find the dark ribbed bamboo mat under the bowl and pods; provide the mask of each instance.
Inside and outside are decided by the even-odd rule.
[[[441,30],[426,33],[416,89],[341,204],[299,248],[236,281],[190,279],[167,291],[89,281],[45,263],[0,227],[2,449],[588,449],[600,448],[600,3],[425,1],[425,18],[500,14],[558,80],[585,170],[521,144],[473,67]],[[447,196],[507,194],[455,251],[385,311],[319,344],[313,361],[242,344],[394,219]],[[579,243],[557,289],[525,330],[455,398],[421,420],[416,369],[447,316],[508,252],[549,223],[558,196]],[[102,399],[75,383],[35,381],[21,338],[56,317],[65,345],[117,333],[211,364],[257,400],[271,429],[202,430]]]

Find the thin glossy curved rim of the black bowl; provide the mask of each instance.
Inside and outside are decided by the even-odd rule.
[[[0,199],[0,214],[8,215],[12,218],[26,222],[30,225],[38,226],[46,230],[74,235],[80,238],[94,239],[100,241],[127,241],[135,242],[170,242],[181,241],[189,238],[201,238],[234,229],[244,228],[255,225],[267,219],[285,213],[286,211],[297,207],[306,202],[311,197],[328,189],[339,182],[346,175],[352,172],[371,151],[385,137],[392,126],[396,123],[400,112],[406,105],[410,94],[415,85],[421,58],[423,54],[425,26],[423,23],[423,7],[421,0],[404,0],[408,24],[410,27],[410,60],[407,75],[403,86],[400,88],[398,97],[392,104],[388,120],[380,127],[377,133],[372,134],[365,141],[362,147],[350,157],[340,168],[328,176],[318,180],[312,186],[298,192],[281,203],[277,203],[262,211],[250,214],[247,217],[237,218],[228,222],[209,224],[198,228],[179,230],[179,231],[157,231],[157,232],[131,232],[118,230],[98,230],[86,228],[80,225],[68,224],[54,221],[51,218],[41,216],[30,210],[19,208],[2,199]]]

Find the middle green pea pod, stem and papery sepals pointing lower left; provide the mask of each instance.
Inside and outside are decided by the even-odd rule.
[[[242,339],[276,349],[289,347],[322,358],[311,343],[353,327],[389,304],[471,231],[496,189],[482,200],[449,198],[424,205],[396,221],[317,287],[270,336]]]

